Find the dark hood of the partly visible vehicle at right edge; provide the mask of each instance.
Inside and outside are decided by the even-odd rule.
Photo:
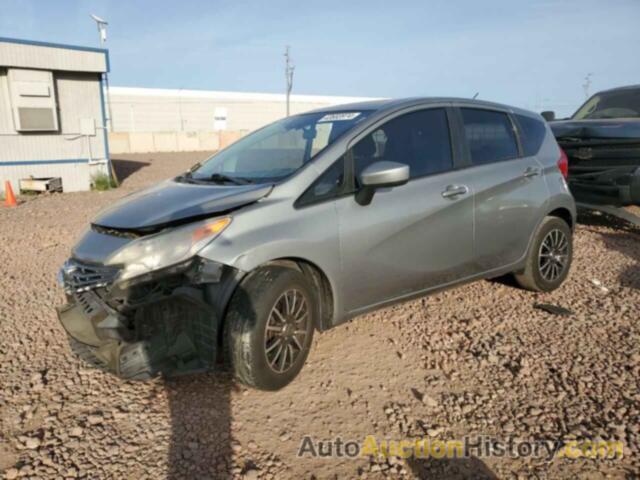
[[[556,138],[638,138],[640,119],[618,118],[607,120],[562,120],[550,122]]]

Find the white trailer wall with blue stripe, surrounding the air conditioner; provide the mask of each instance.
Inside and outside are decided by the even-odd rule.
[[[88,190],[93,175],[108,172],[100,75],[54,72],[58,104],[58,132],[15,130],[9,102],[7,70],[0,70],[0,190],[4,181],[18,190],[29,176],[60,176],[65,191]],[[80,119],[93,119],[95,135],[80,136]]]

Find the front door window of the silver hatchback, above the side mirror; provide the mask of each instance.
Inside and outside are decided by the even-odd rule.
[[[353,147],[356,179],[374,162],[409,165],[411,178],[453,168],[447,112],[431,108],[407,113],[382,125]]]

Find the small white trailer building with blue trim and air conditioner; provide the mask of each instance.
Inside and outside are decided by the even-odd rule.
[[[108,174],[103,49],[0,37],[0,191],[9,180],[61,177],[88,190]]]

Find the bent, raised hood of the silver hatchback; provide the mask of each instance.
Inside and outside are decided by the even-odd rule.
[[[271,184],[203,185],[167,180],[124,197],[100,212],[93,224],[118,230],[155,231],[256,202],[272,188]]]

